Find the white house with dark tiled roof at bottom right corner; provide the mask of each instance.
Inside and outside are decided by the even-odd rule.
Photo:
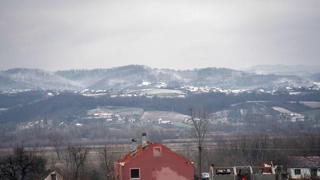
[[[291,179],[320,177],[320,157],[288,157],[288,174]]]

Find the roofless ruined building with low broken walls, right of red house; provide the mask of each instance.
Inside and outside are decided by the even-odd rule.
[[[262,166],[210,166],[209,180],[276,180],[272,162]]]

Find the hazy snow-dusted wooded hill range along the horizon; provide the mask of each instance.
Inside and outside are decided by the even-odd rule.
[[[261,86],[309,86],[317,79],[314,76],[292,75],[292,70],[304,71],[309,66],[290,67],[284,65],[259,65],[251,70],[240,71],[228,68],[201,68],[172,70],[151,68],[144,65],[127,65],[106,69],[77,69],[47,71],[41,69],[14,68],[0,71],[0,90],[42,89],[82,90],[90,89],[136,89],[143,82],[160,83],[167,87],[216,86],[221,88],[256,88]],[[318,67],[315,67],[315,73]],[[271,72],[285,69],[284,74],[275,75],[256,72]],[[311,69],[311,68],[310,68]],[[311,74],[311,71],[309,71]],[[319,72],[319,71],[318,71]]]

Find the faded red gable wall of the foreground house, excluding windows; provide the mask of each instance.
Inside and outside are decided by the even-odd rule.
[[[154,157],[154,147],[161,147],[161,156]],[[139,180],[193,180],[191,161],[160,143],[127,162],[122,167],[122,180],[130,180],[130,168],[140,168]]]

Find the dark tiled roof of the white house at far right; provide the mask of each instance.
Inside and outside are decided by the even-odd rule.
[[[320,157],[288,157],[288,168],[320,168]]]

